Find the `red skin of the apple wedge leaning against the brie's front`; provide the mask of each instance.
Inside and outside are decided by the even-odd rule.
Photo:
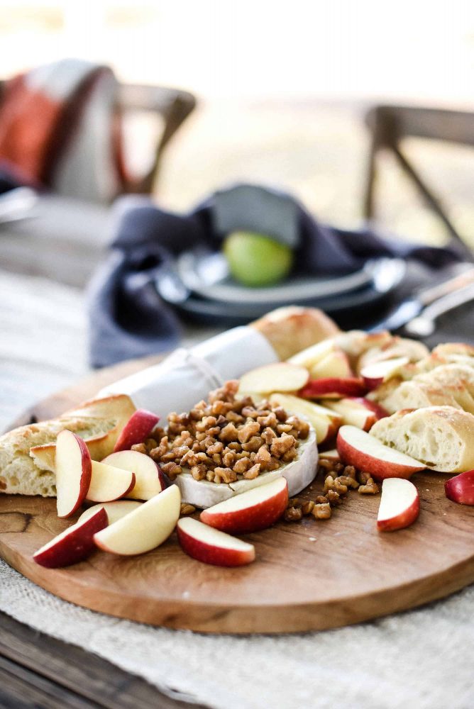
[[[248,534],[265,530],[282,517],[288,504],[288,486],[282,491],[256,505],[241,510],[213,513],[212,508],[203,510],[199,519],[209,527],[229,534]]]

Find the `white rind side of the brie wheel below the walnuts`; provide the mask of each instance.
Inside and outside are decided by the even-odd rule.
[[[211,483],[207,480],[194,480],[188,472],[182,472],[175,479],[175,484],[180,488],[183,502],[205,509],[212,507],[228,498],[246,492],[260,485],[270,483],[281,476],[288,481],[288,494],[290,497],[304,490],[316,477],[318,467],[318,447],[316,432],[309,429],[307,440],[300,442],[298,457],[278,470],[263,473],[253,480],[238,480],[234,483]]]

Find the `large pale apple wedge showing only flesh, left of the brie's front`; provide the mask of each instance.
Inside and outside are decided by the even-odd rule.
[[[113,525],[97,532],[94,542],[111,554],[144,554],[167,540],[180,518],[180,510],[180,489],[171,485]]]

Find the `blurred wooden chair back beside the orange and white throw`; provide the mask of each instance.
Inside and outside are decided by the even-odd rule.
[[[4,84],[4,81],[0,81],[0,101]],[[150,194],[158,179],[163,150],[189,113],[194,110],[196,99],[189,91],[181,89],[145,84],[120,84],[118,106],[124,116],[128,112],[139,111],[155,114],[161,118],[162,132],[154,149],[150,169],[140,178],[131,179],[125,189],[126,193]]]

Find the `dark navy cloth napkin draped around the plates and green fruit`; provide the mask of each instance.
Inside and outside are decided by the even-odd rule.
[[[180,339],[179,320],[155,287],[172,258],[199,244],[219,249],[233,230],[263,233],[290,245],[295,269],[343,274],[369,258],[396,256],[442,267],[461,258],[456,247],[435,248],[382,238],[371,230],[341,230],[317,221],[296,199],[275,189],[238,184],[211,195],[183,216],[145,197],[116,204],[111,253],[89,289],[90,356],[94,367],[163,352]]]

